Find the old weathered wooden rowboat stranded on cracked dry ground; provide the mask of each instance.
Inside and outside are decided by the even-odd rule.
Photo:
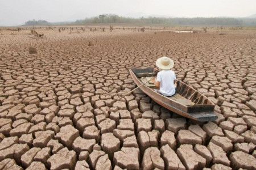
[[[146,69],[134,68],[129,71],[134,82],[137,86],[140,86],[146,83],[150,77],[156,76],[155,71],[157,70],[148,67]],[[176,94],[171,97],[163,96],[154,91],[156,87],[150,82],[139,88],[156,103],[181,116],[203,122],[214,121],[218,118],[214,114],[214,104],[212,101],[180,80],[177,80]]]

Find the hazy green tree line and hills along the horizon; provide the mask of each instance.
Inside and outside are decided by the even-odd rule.
[[[114,14],[102,14],[69,22],[69,24],[91,23],[135,23],[135,24],[167,24],[167,25],[226,25],[226,26],[256,26],[256,18],[129,18]],[[29,20],[25,25],[50,25],[46,20]],[[65,24],[65,23],[64,23]]]

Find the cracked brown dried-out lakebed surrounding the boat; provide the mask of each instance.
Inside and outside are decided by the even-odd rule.
[[[36,31],[0,31],[0,169],[255,169],[256,31]],[[117,101],[135,88],[128,69],[162,56],[216,121],[139,90]]]

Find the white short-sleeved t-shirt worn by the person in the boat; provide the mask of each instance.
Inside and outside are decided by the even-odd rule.
[[[175,94],[174,80],[176,76],[172,70],[162,70],[156,78],[160,82],[160,93],[164,96],[172,96]]]

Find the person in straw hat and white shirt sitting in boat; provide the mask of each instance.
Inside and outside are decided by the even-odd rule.
[[[159,67],[159,71],[156,80],[155,77],[151,78],[151,81],[155,84],[159,90],[156,90],[164,96],[173,96],[176,93],[177,83],[174,71],[170,70],[174,67],[174,61],[168,57],[161,57],[156,60],[156,66]]]

